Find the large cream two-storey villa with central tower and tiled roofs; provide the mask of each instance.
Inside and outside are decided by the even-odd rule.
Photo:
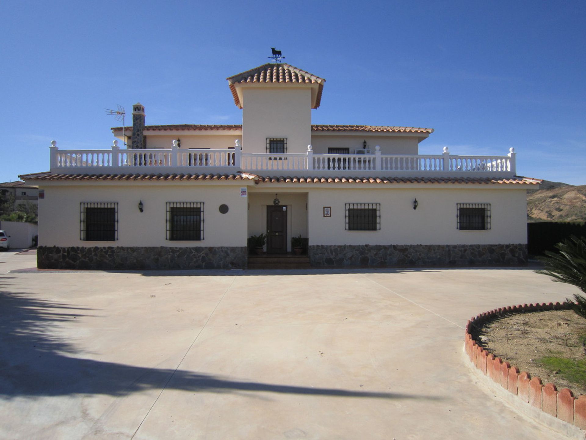
[[[242,125],[113,128],[130,148],[50,147],[40,268],[246,268],[308,240],[312,266],[518,265],[526,188],[503,156],[418,154],[431,128],[312,125],[325,80],[287,64],[228,78]]]

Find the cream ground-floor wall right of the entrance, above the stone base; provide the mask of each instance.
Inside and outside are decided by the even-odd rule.
[[[309,245],[527,243],[524,188],[312,188],[308,203]],[[380,203],[380,231],[346,231],[346,203]],[[456,229],[458,203],[489,203],[490,229]],[[323,207],[332,207],[331,217],[323,217]]]

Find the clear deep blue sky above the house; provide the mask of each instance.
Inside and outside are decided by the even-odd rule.
[[[0,182],[49,145],[107,148],[104,108],[239,124],[226,77],[285,61],[326,79],[314,124],[432,127],[423,154],[517,151],[586,184],[586,2],[2,2]]]

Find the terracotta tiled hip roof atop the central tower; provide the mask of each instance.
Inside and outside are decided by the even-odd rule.
[[[267,63],[262,66],[254,67],[254,69],[247,70],[246,72],[227,77],[226,79],[228,80],[230,91],[234,97],[234,104],[240,108],[242,108],[242,104],[240,103],[234,84],[319,84],[315,105],[312,107],[317,109],[322,99],[323,83],[326,82],[325,79],[320,78],[319,76],[301,70],[299,67],[288,65],[287,63]]]

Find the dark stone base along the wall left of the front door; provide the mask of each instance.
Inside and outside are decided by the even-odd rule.
[[[142,247],[39,246],[39,269],[246,269],[246,246]]]

